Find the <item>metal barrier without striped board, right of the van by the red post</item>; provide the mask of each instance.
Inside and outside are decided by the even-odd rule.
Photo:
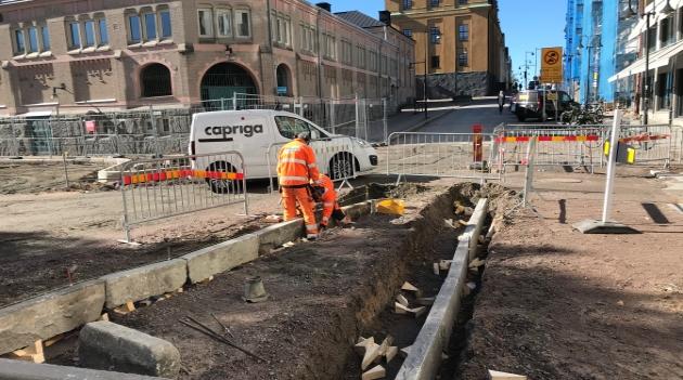
[[[387,174],[501,180],[491,168],[497,149],[493,134],[395,132],[388,137]],[[487,160],[484,157],[488,157]]]

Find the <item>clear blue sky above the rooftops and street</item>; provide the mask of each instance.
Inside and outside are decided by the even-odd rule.
[[[319,1],[309,0],[315,3]],[[333,12],[358,10],[377,18],[384,0],[327,0]],[[524,65],[525,52],[565,45],[566,0],[499,0],[501,27],[513,58],[513,71]],[[529,61],[534,56],[527,54]],[[524,69],[523,69],[524,70]],[[532,70],[532,68],[529,68]]]

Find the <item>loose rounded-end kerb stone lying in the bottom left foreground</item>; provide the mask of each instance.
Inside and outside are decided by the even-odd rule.
[[[78,358],[88,368],[176,378],[180,352],[171,343],[111,322],[80,330]]]

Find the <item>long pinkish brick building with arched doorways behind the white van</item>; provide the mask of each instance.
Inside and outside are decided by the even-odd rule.
[[[414,41],[376,21],[356,25],[326,3],[5,0],[0,15],[0,115],[193,105],[233,93],[415,96]]]

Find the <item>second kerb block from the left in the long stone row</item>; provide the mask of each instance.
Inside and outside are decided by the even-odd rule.
[[[105,305],[112,309],[181,288],[188,279],[188,264],[183,259],[176,259],[101,278],[106,285]]]

